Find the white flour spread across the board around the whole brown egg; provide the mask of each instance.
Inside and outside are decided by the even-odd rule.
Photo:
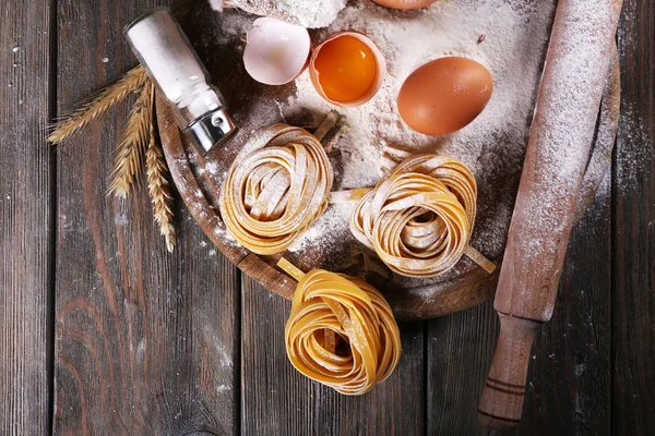
[[[527,145],[555,2],[438,1],[415,11],[391,10],[369,0],[349,2],[327,28],[313,35],[314,43],[332,32],[360,32],[384,55],[388,75],[372,100],[357,108],[338,108],[346,120],[331,154],[334,190],[372,186],[394,161],[410,153],[453,157],[466,164],[478,182],[478,218],[472,245],[490,258],[500,255]],[[322,17],[327,21],[343,2],[274,3],[277,16],[305,11],[308,20],[315,23]],[[326,4],[323,15],[321,8]],[[247,31],[238,24],[229,24],[227,29],[235,36]],[[444,56],[466,57],[487,66],[495,89],[487,108],[468,126],[451,135],[427,136],[403,123],[396,97],[416,68]],[[309,111],[318,124],[334,109],[314,90],[307,72],[296,81],[296,87],[291,97],[278,102],[287,122],[307,118],[303,116]],[[291,251],[300,253],[308,246],[331,244],[336,235],[347,233],[348,214],[348,207],[330,207]]]

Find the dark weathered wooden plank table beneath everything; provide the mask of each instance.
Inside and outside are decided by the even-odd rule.
[[[0,2],[0,435],[486,434],[490,302],[402,325],[393,376],[340,396],[293,370],[289,304],[217,254],[179,199],[169,255],[145,190],[106,195],[129,105],[46,146],[55,118],[134,64],[121,29],[158,3]],[[655,434],[652,0],[626,0],[618,40],[611,177],[573,232],[520,434]]]

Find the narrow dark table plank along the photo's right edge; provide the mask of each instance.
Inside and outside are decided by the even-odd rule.
[[[655,432],[655,7],[626,0],[614,183],[612,433]]]

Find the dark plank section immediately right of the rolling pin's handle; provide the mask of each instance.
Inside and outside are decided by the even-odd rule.
[[[532,350],[520,434],[610,431],[611,195],[607,174],[573,228],[552,319]]]

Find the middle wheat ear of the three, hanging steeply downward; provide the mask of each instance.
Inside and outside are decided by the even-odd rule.
[[[148,144],[153,122],[154,85],[147,82],[136,99],[122,134],[111,172],[109,194],[126,198],[141,173],[141,162]]]

